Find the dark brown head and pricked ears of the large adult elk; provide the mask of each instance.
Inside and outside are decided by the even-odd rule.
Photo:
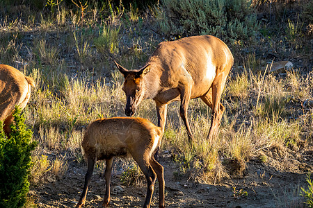
[[[136,113],[138,105],[145,97],[145,81],[143,77],[150,71],[150,64],[137,70],[125,69],[117,62],[115,62],[115,65],[125,78],[122,87],[126,94],[125,114],[132,116]]]

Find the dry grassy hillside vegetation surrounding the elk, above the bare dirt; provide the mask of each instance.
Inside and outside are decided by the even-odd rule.
[[[29,6],[0,3],[0,63],[33,77],[37,86],[24,110],[33,139],[39,141],[30,176],[33,190],[84,163],[81,139],[90,121],[125,116],[123,78],[112,58],[129,69],[143,66],[163,37],[171,38],[158,31],[160,10],[154,7],[139,12],[110,1],[86,1],[88,7],[82,10],[71,1],[48,2],[47,6],[43,1]],[[187,142],[179,103],[168,107],[162,151],[177,164],[175,180],[218,184],[243,177],[250,161],[292,172],[299,170],[294,160],[300,161],[312,146],[313,5],[253,2],[260,33],[256,44],[230,45],[235,64],[223,94],[226,110],[214,144],[206,140],[207,105],[198,100],[189,105],[193,144]],[[266,67],[266,62],[280,60],[293,62],[294,68],[270,72]],[[138,110],[136,116],[156,123],[153,101],[143,101]],[[133,162],[120,166],[127,184],[132,184],[129,178],[141,177]],[[300,171],[307,173],[312,167],[307,164]],[[98,163],[97,170],[103,168]],[[28,206],[37,203],[30,197]]]

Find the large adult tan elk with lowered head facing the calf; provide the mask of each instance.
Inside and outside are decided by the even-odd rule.
[[[143,99],[152,98],[157,107],[158,125],[164,132],[168,103],[180,101],[180,116],[191,141],[188,103],[190,99],[201,98],[212,109],[208,135],[211,142],[225,110],[220,96],[233,62],[226,44],[211,35],[161,42],[142,69],[127,70],[115,62],[125,77],[125,114],[135,114]]]

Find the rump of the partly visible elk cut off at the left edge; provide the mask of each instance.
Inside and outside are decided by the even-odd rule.
[[[0,64],[0,121],[3,121],[3,129],[8,137],[15,105],[24,109],[31,97],[31,86],[35,87],[33,78],[24,76],[14,67]]]

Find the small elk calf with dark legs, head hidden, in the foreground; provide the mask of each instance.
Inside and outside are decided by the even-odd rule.
[[[93,168],[97,160],[106,160],[106,193],[104,207],[109,206],[110,180],[113,157],[131,155],[138,163],[147,180],[147,196],[143,207],[150,207],[154,182],[159,181],[159,207],[164,207],[164,178],[163,166],[155,161],[154,151],[161,140],[161,128],[142,118],[115,117],[111,119],[97,119],[88,125],[83,136],[83,150],[88,162],[83,193],[77,204],[81,207],[86,202],[86,195]]]

